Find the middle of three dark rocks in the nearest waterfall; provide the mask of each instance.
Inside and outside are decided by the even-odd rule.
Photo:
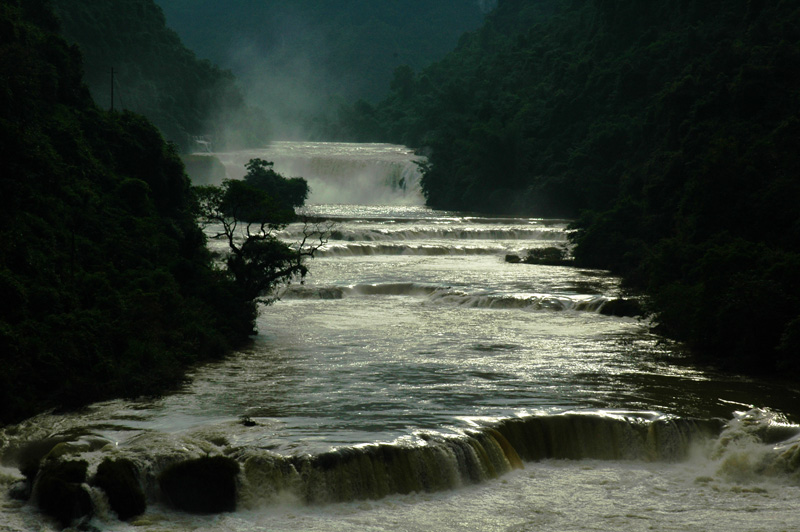
[[[106,458],[97,467],[92,485],[106,492],[111,509],[123,521],[144,513],[147,508],[136,465],[125,458]]]

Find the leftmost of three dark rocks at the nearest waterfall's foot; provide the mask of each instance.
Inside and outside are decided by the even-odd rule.
[[[36,481],[39,508],[63,527],[92,514],[92,499],[81,485],[86,481],[85,460],[47,461]]]

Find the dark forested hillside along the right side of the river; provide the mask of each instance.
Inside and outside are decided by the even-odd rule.
[[[800,6],[501,0],[396,72],[340,136],[430,154],[433,207],[580,215],[575,257],[662,330],[750,372],[800,368]]]

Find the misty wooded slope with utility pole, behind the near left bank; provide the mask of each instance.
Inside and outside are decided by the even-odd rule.
[[[153,0],[52,1],[99,105],[111,106],[113,68],[114,107],[145,115],[184,151],[197,147],[196,135],[215,149],[266,140],[263,112],[244,103],[233,74],[187,49]]]

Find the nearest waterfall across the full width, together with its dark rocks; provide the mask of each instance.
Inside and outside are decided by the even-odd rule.
[[[728,422],[619,410],[475,418],[470,428],[451,432],[418,430],[391,442],[288,455],[235,443],[237,433],[258,430],[262,421],[233,423],[194,433],[143,432],[123,445],[90,433],[38,441],[16,441],[9,434],[0,439],[0,457],[27,477],[17,476],[12,495],[43,496],[45,483],[49,489],[55,482],[71,490],[59,488],[65,494],[90,494],[85,511],[105,522],[115,519],[108,504],[117,514],[127,508],[120,493],[139,499],[140,509],[131,516],[145,504],[199,513],[324,505],[457,489],[514,469],[535,469],[544,460],[698,463],[691,456],[700,452],[720,475],[734,479],[787,478],[800,469],[800,427],[762,409],[737,413]],[[36,430],[33,424],[22,428]],[[122,469],[129,472],[127,480],[120,476]],[[68,470],[81,471],[79,478],[59,473]],[[121,490],[116,497],[115,489]]]

